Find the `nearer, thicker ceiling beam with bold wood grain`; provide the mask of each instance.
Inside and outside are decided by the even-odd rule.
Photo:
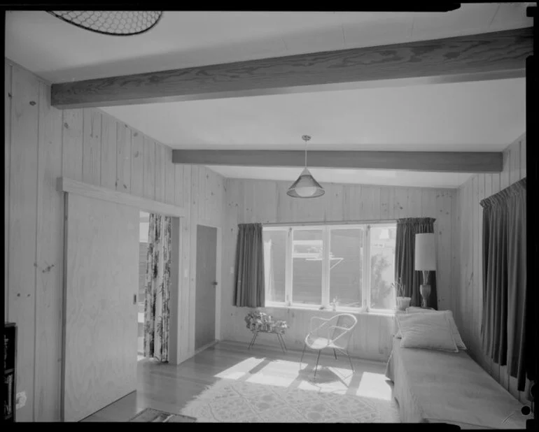
[[[531,28],[395,45],[274,57],[53,84],[52,106],[134,103],[312,92],[379,80],[462,82],[524,76]]]

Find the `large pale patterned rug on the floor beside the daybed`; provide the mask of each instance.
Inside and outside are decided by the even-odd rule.
[[[197,422],[400,423],[395,401],[221,380],[186,405]]]

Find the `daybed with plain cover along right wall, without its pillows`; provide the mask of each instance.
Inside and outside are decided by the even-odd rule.
[[[523,406],[464,351],[400,347],[393,338],[386,377],[395,384],[402,422],[462,429],[524,429]]]

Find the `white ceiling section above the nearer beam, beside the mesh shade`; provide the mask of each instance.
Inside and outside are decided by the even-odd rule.
[[[448,13],[165,11],[150,31],[106,36],[44,11],[8,11],[6,57],[51,82],[531,27],[529,3]]]

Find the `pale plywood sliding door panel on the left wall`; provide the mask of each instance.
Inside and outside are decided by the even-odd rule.
[[[64,421],[137,389],[139,210],[66,196]]]

